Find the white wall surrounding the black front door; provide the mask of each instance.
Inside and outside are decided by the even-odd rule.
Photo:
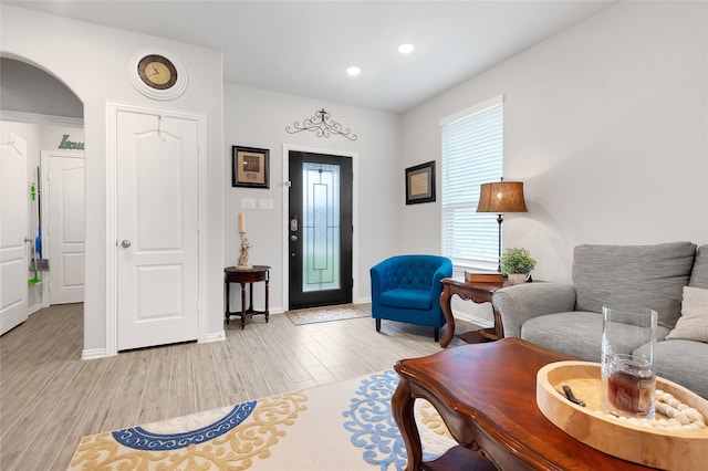
[[[288,134],[285,126],[314,116],[322,109],[357,135],[355,142],[342,136],[317,137],[314,133]],[[368,269],[379,260],[400,252],[399,202],[404,200],[399,160],[400,117],[240,85],[225,85],[225,258],[223,265],[238,259],[237,214],[246,213],[250,262],[270,265],[270,311],[288,310],[283,302],[283,273],[288,266],[283,251],[287,207],[283,182],[283,145],[329,154],[355,154],[354,158],[354,302],[371,299]],[[270,149],[270,189],[231,187],[231,146]],[[241,198],[273,200],[273,210],[242,210]],[[262,306],[262,291],[256,287],[254,304]],[[232,311],[240,297],[233,296]]]

